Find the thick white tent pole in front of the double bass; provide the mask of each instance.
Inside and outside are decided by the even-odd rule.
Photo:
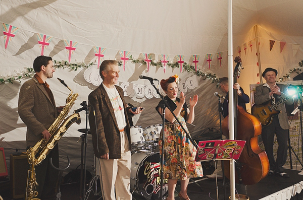
[[[234,90],[233,90],[233,43],[232,43],[232,0],[228,0],[228,99],[229,103],[229,140],[234,140]],[[235,163],[234,160],[229,161],[230,165],[230,196],[235,200]]]

